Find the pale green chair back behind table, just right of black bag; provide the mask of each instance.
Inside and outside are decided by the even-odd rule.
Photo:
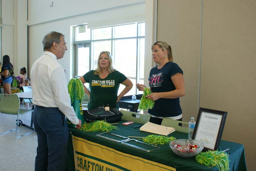
[[[135,113],[135,112],[130,112],[127,110],[120,110],[123,114],[122,118],[123,120],[127,121],[133,121],[137,123],[142,123],[145,124],[150,120],[151,115],[150,114],[141,114],[141,113]],[[136,115],[136,117],[133,117],[133,114]],[[137,118],[138,116],[138,118]]]

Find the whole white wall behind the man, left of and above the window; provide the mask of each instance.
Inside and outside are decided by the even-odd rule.
[[[65,35],[67,42],[68,50],[64,57],[58,60],[66,70],[67,80],[71,78],[71,59],[73,58],[72,50],[70,50],[72,48],[71,26],[85,23],[99,23],[101,21],[105,25],[105,20],[108,20],[110,23],[116,21],[122,21],[123,23],[138,22],[136,20],[137,16],[139,16],[140,20],[145,16],[145,3],[139,0],[113,1],[115,3],[106,3],[105,0],[97,0],[90,2],[89,5],[86,3],[88,1],[79,1],[79,4],[77,2],[74,3],[76,7],[74,4],[69,4],[69,0],[62,0],[62,4],[58,2],[57,0],[53,1],[53,7],[56,9],[52,10],[48,6],[49,2],[37,1],[35,3],[32,0],[28,1],[28,68],[30,69],[35,60],[43,54],[42,40],[44,35],[50,31],[57,31]],[[111,7],[110,4],[115,4],[115,6]],[[70,10],[69,12],[63,13],[61,11],[65,5],[70,6]],[[35,10],[40,8],[44,10]],[[85,14],[81,14],[83,9]],[[59,13],[62,14],[63,18],[57,19],[59,18]],[[51,18],[48,15],[52,16],[52,20],[50,20]]]

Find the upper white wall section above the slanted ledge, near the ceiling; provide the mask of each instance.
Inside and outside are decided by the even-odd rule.
[[[50,7],[50,1],[53,6]],[[96,11],[104,11],[122,6],[133,6],[136,3],[144,3],[145,0],[28,0],[28,25],[39,24],[66,17],[74,17]],[[144,11],[144,8],[141,10]],[[130,14],[136,14],[133,8]],[[103,17],[103,16],[101,16]]]

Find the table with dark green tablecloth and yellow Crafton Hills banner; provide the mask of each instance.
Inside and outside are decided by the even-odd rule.
[[[124,126],[119,121],[115,126],[118,130],[111,133],[124,137],[137,136],[146,137],[152,133],[139,131],[133,123]],[[216,167],[209,168],[199,164],[195,157],[182,158],[174,154],[169,144],[157,145],[160,148],[151,152],[130,147],[96,136],[102,132],[84,132],[70,128],[68,150],[67,150],[67,171],[117,171],[117,170],[172,170],[172,171],[217,171]],[[177,139],[187,138],[188,134],[175,131],[169,136]],[[139,138],[134,138],[139,139]],[[231,171],[246,171],[244,146],[242,144],[221,140],[219,150],[225,150],[229,154]]]

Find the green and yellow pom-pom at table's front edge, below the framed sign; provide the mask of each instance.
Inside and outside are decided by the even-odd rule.
[[[229,155],[223,151],[208,150],[207,152],[201,152],[197,154],[196,161],[209,168],[216,166],[219,171],[229,171]]]

